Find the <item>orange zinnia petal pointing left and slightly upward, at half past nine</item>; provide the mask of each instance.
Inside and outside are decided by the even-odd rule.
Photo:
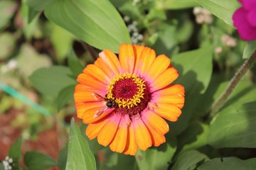
[[[107,86],[104,82],[96,79],[95,77],[92,77],[89,74],[84,73],[78,75],[77,81],[80,82],[80,84],[85,84],[86,86],[90,86],[99,90],[104,90]]]

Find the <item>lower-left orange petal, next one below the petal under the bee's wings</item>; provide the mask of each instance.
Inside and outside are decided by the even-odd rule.
[[[105,116],[105,118],[102,118],[95,123],[90,123],[85,130],[85,134],[87,135],[87,137],[89,137],[90,140],[97,137],[102,127],[107,123],[108,119],[109,116]]]

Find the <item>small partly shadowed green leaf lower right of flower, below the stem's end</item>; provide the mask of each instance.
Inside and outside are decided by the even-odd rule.
[[[189,125],[178,137],[178,149],[181,150],[179,153],[207,145],[208,130],[209,126],[203,123],[195,122]]]

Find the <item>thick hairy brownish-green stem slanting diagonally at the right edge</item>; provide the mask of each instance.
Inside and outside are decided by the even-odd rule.
[[[220,108],[223,107],[225,102],[228,100],[228,97],[232,94],[235,87],[238,86],[238,83],[242,80],[242,78],[245,76],[247,71],[252,68],[253,64],[256,62],[256,51],[253,52],[252,56],[248,58],[244,64],[240,67],[238,72],[235,73],[235,76],[231,79],[230,83],[228,84],[225,91],[223,91],[223,94],[220,95],[220,97],[213,103],[213,105],[210,108],[210,118],[217,113]]]

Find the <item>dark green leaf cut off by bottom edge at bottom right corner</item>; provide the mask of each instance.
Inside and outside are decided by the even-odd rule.
[[[237,157],[215,158],[205,162],[198,170],[254,170],[256,169],[256,158],[241,160]]]

